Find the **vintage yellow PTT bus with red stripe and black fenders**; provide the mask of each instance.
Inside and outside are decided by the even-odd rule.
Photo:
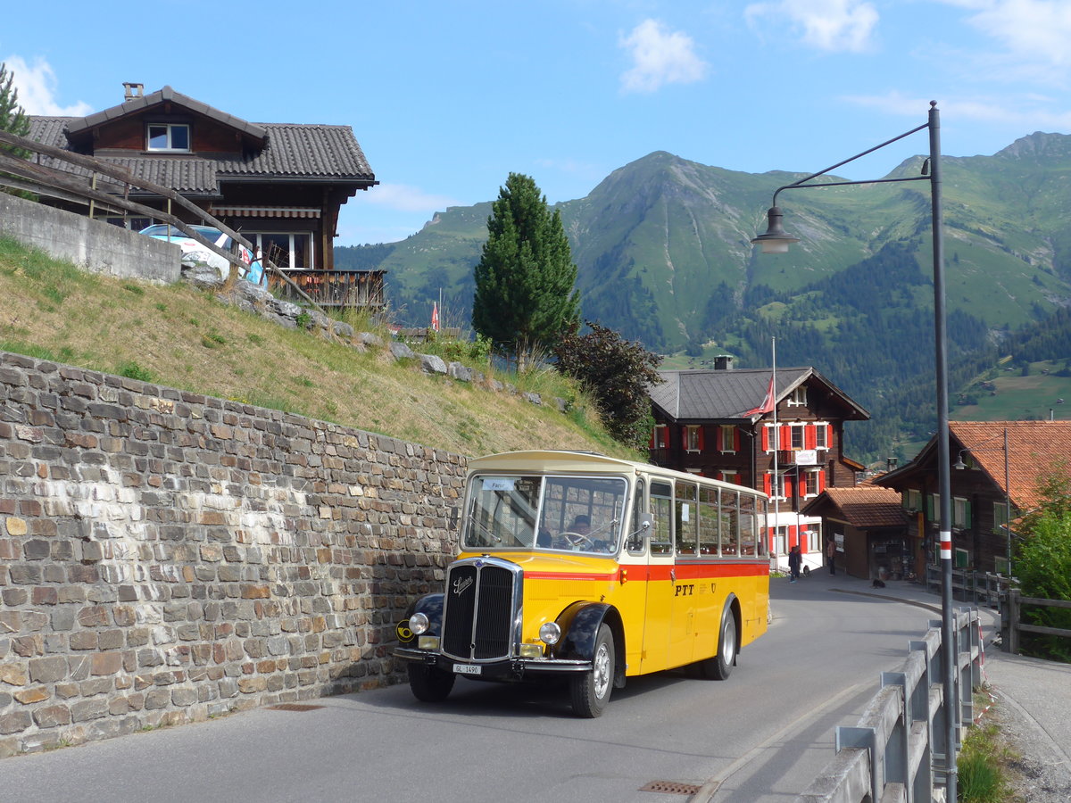
[[[457,676],[567,678],[599,716],[625,678],[694,665],[727,678],[766,632],[766,495],[579,452],[472,460],[446,589],[398,624],[424,701]]]

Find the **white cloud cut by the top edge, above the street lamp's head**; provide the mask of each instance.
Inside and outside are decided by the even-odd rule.
[[[760,18],[787,20],[804,43],[819,50],[861,52],[871,47],[878,13],[862,0],[779,0],[744,9],[752,26]]]

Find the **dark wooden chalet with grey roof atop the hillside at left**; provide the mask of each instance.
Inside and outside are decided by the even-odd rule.
[[[123,103],[86,117],[30,117],[30,138],[127,169],[171,187],[246,237],[259,252],[328,305],[350,297],[382,304],[382,272],[335,271],[338,211],[379,182],[348,125],[251,123],[164,87],[150,94],[124,84]],[[57,158],[57,169],[86,172]],[[94,185],[200,223],[165,198],[114,179]],[[43,202],[86,213],[66,196]],[[90,206],[100,219],[135,230],[154,221]],[[342,275],[346,274],[346,275]],[[356,276],[349,274],[377,274]],[[334,302],[334,303],[333,303]]]

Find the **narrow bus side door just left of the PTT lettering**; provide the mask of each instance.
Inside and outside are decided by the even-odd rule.
[[[651,481],[650,511],[654,518],[649,537],[647,558],[647,610],[644,624],[643,672],[666,669],[673,638],[673,485],[663,480]]]

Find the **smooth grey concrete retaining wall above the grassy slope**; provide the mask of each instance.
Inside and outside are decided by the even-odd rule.
[[[165,284],[178,282],[182,273],[175,243],[6,193],[0,193],[0,234],[94,273]]]

